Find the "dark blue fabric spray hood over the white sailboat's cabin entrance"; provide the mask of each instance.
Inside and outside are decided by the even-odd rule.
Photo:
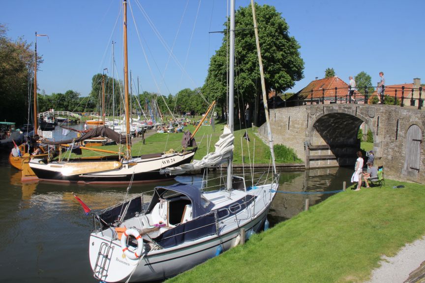
[[[168,191],[180,193],[190,199],[192,202],[193,218],[210,212],[211,208],[213,207],[213,204],[202,196],[202,193],[198,188],[189,184],[177,183],[171,186],[156,187],[155,193],[152,196],[151,203],[149,204],[146,213],[150,213],[155,204],[158,203],[161,198],[164,198],[165,193]]]

